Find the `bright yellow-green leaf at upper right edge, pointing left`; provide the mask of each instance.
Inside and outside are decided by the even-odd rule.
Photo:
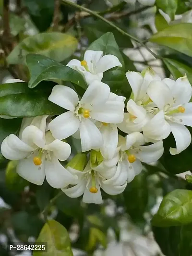
[[[192,24],[171,25],[152,36],[150,41],[192,56]]]

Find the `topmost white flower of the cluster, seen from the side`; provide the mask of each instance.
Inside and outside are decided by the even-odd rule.
[[[91,84],[94,80],[101,81],[103,73],[108,69],[122,67],[122,64],[114,55],[103,56],[102,51],[87,50],[84,53],[84,61],[71,60],[67,66],[82,73],[86,82]]]

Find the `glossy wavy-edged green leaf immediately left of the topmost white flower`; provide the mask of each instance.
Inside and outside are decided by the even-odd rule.
[[[39,54],[28,54],[26,63],[31,74],[29,88],[34,88],[43,80],[52,79],[69,81],[84,89],[87,88],[84,77],[79,72],[48,57]]]

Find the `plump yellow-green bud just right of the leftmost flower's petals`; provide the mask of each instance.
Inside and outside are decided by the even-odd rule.
[[[78,171],[83,171],[84,166],[86,164],[87,157],[84,153],[78,153],[76,156],[74,156],[66,165],[67,167],[71,167]]]

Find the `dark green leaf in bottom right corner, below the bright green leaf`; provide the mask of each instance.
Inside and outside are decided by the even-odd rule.
[[[155,240],[166,256],[192,256],[192,224],[178,227],[153,227]]]

